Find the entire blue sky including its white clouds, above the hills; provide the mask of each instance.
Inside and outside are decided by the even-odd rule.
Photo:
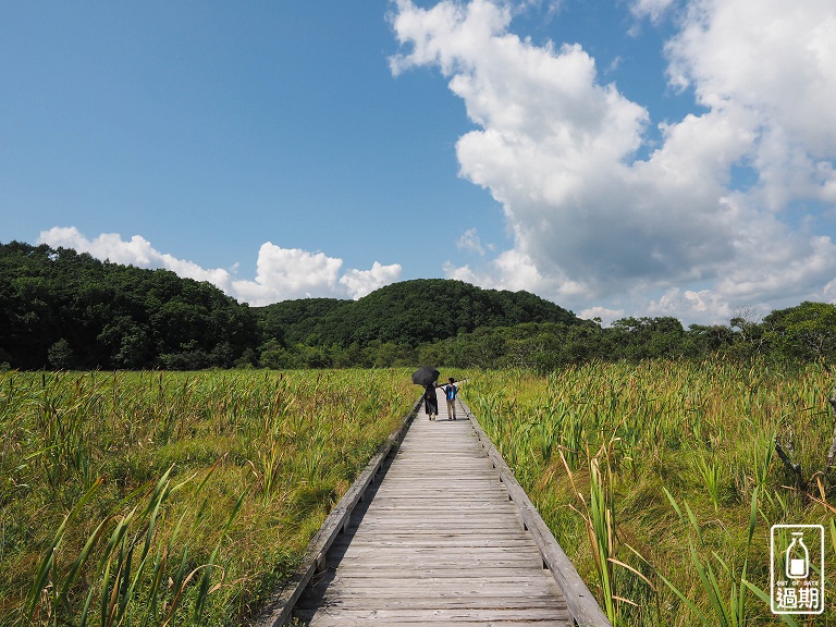
[[[0,242],[254,305],[834,302],[834,29],[828,0],[12,3]]]

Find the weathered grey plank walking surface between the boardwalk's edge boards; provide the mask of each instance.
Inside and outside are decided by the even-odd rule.
[[[296,603],[311,627],[573,625],[466,416],[421,411]]]

